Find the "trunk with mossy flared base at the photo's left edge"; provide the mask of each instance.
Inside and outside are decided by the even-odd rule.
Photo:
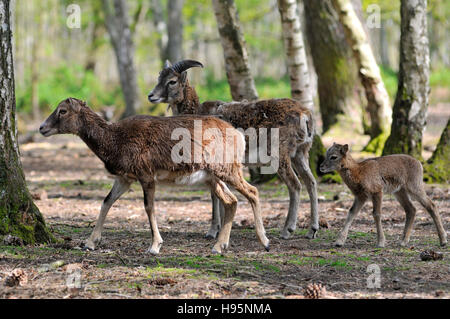
[[[49,242],[52,235],[33,204],[19,158],[9,0],[0,0],[0,25],[0,235]]]

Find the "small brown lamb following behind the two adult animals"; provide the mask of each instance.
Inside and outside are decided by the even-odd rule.
[[[326,153],[325,161],[320,165],[323,173],[338,171],[342,180],[355,195],[344,228],[336,241],[343,246],[350,225],[367,200],[372,200],[373,217],[378,235],[378,247],[384,247],[385,238],[381,226],[381,204],[383,193],[393,193],[406,212],[402,246],[409,242],[416,216],[411,199],[417,200],[431,215],[436,225],[440,244],[447,244],[447,235],[442,226],[436,206],[425,193],[422,164],[409,155],[388,155],[356,162],[349,153],[348,145],[333,144]]]

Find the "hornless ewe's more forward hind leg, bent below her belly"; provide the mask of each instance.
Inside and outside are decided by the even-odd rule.
[[[221,180],[211,182],[211,191],[214,192],[225,207],[225,216],[222,228],[219,232],[217,243],[213,247],[213,253],[220,254],[228,248],[231,226],[236,214],[237,198]]]

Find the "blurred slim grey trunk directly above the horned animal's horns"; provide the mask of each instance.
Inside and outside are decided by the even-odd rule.
[[[167,3],[167,59],[172,63],[183,60],[183,3],[169,0]]]

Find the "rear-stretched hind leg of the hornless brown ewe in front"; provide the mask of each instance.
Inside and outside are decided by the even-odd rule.
[[[266,231],[262,221],[258,189],[247,183],[241,170],[232,176],[225,177],[225,179],[230,186],[233,186],[239,193],[244,195],[250,202],[250,205],[252,205],[256,235],[264,248],[269,251],[269,239],[266,237]]]

